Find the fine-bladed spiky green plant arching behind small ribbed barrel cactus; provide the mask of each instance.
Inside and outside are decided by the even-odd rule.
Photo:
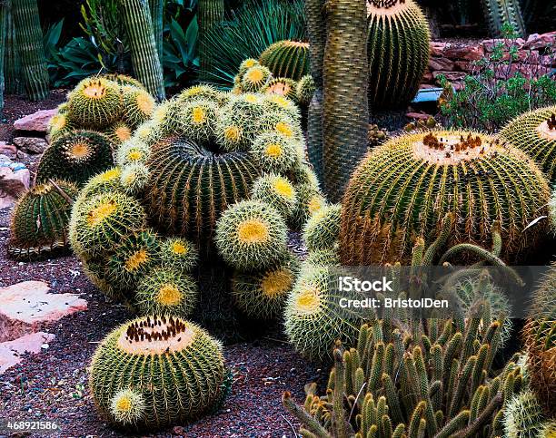
[[[238,67],[247,58],[257,59],[271,44],[305,40],[303,2],[248,0],[232,18],[213,26],[204,38],[206,72],[201,77],[224,88],[233,87]]]

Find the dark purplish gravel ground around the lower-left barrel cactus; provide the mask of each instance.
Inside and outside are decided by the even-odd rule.
[[[0,141],[10,141],[15,119],[38,109],[55,107],[64,92],[50,100],[29,103],[7,96]],[[19,160],[34,169],[38,157]],[[42,280],[55,293],[79,294],[88,310],[66,316],[47,331],[55,340],[37,355],[0,376],[0,419],[54,421],[61,436],[119,436],[96,415],[87,388],[87,366],[94,348],[108,332],[130,317],[123,306],[107,302],[84,276],[74,257],[35,263],[6,258],[9,211],[0,210],[0,287],[25,280]],[[294,252],[302,252],[299,236],[293,236]],[[282,437],[294,436],[298,423],[281,403],[284,390],[303,402],[304,384],[323,378],[320,369],[307,364],[283,340],[281,329],[271,330],[254,342],[225,347],[226,363],[233,372],[232,394],[216,414],[154,436],[187,437]],[[34,435],[41,436],[41,435]]]

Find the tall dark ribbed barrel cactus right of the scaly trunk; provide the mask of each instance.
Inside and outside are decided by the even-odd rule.
[[[372,0],[369,5],[371,111],[407,105],[429,63],[429,24],[413,0]]]

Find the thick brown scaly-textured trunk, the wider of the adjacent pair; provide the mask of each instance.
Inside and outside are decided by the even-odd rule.
[[[324,189],[333,202],[367,151],[369,125],[365,0],[327,0],[323,65]]]

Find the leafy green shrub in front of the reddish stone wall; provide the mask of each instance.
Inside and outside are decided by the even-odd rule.
[[[441,98],[444,122],[458,128],[497,131],[523,112],[556,102],[556,82],[549,76],[554,53],[540,63],[521,60],[516,34],[504,25],[504,38],[495,44],[489,57],[474,63],[474,71],[464,78],[464,88],[452,92],[452,84],[441,77],[445,92]]]

